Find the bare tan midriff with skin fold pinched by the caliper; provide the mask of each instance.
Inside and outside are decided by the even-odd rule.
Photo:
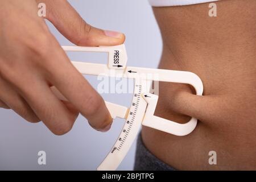
[[[160,82],[155,115],[199,122],[184,137],[143,127],[142,139],[176,169],[256,169],[256,1],[215,3],[217,17],[208,15],[209,3],[153,8],[163,37],[159,68],[196,73],[204,93]]]

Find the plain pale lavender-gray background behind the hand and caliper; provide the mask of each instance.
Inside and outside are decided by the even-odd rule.
[[[150,5],[146,0],[69,1],[86,22],[105,30],[126,35],[129,66],[156,68],[162,42]],[[61,45],[71,45],[48,23]],[[105,54],[69,53],[71,60],[106,63]],[[87,77],[97,88],[97,78]],[[75,93],[74,93],[75,94]],[[129,106],[131,94],[102,94],[106,101]],[[123,120],[116,119],[112,130],[100,133],[79,116],[72,131],[63,136],[53,135],[42,122],[24,121],[12,110],[0,109],[0,169],[35,170],[94,170],[113,146]],[[46,151],[46,165],[38,165],[38,151]],[[133,169],[135,143],[119,166]]]

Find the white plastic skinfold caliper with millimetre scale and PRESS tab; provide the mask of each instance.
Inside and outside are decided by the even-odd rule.
[[[107,52],[108,64],[82,63],[72,61],[73,65],[83,75],[101,75],[110,77],[134,78],[134,94],[130,108],[106,102],[112,118],[125,118],[126,122],[113,148],[100,164],[97,170],[115,170],[129,151],[141,125],[151,127],[177,136],[191,133],[197,124],[196,118],[185,124],[176,123],[154,115],[158,96],[151,94],[148,82],[165,81],[190,84],[196,94],[203,93],[203,83],[192,72],[173,71],[165,69],[151,69],[126,67],[127,54],[125,45],[110,47],[78,47],[63,46],[64,51]],[[157,76],[145,76],[145,75]]]

